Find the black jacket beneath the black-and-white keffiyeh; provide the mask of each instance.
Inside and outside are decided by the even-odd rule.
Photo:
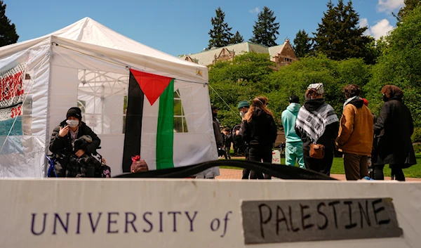
[[[323,98],[319,99],[313,99],[313,100],[307,100],[304,103],[304,107],[308,111],[316,111],[318,110],[323,104],[325,104],[325,101]],[[316,141],[316,143],[324,145],[326,149],[328,150],[335,150],[335,140],[338,137],[338,131],[339,131],[339,122],[333,122],[331,124],[328,124],[326,126],[326,129],[323,133],[323,135],[319,138],[319,140]],[[298,137],[302,140],[302,148],[309,150],[310,143],[312,141],[307,136],[306,133],[301,133],[300,129],[295,127],[295,133],[297,133]]]

